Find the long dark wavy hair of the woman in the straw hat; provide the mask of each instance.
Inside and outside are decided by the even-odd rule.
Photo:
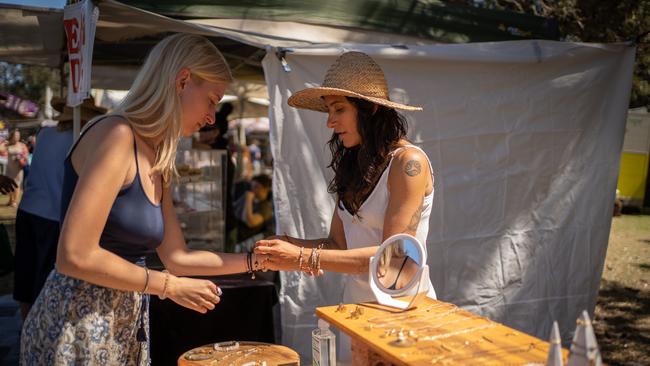
[[[328,191],[337,194],[339,207],[359,216],[361,204],[388,166],[390,152],[401,139],[406,138],[408,125],[406,119],[392,108],[363,99],[346,98],[357,108],[357,130],[361,143],[348,149],[336,133],[332,134],[328,145],[332,152],[329,167],[334,170],[334,178],[329,183]]]

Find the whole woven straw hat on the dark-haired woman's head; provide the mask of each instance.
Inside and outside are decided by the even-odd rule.
[[[330,66],[323,85],[296,92],[289,97],[292,107],[327,112],[323,101],[326,95],[342,95],[365,99],[388,108],[406,111],[421,111],[422,107],[391,102],[388,85],[381,67],[370,56],[362,52],[346,52]]]

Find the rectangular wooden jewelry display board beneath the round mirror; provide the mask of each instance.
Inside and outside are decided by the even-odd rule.
[[[356,365],[544,365],[550,346],[429,298],[405,312],[362,303],[316,308],[316,315],[352,338]]]

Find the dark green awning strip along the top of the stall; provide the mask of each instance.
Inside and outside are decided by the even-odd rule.
[[[445,43],[559,39],[549,19],[508,11],[409,0],[123,0],[172,18],[300,22],[401,34]]]

